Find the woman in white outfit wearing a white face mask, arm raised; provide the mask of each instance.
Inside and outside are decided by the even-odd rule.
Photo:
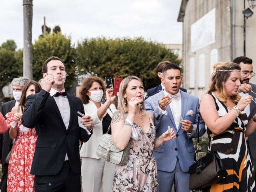
[[[93,134],[90,140],[82,144],[82,188],[84,192],[110,192],[114,178],[115,164],[98,158],[96,151],[99,139],[108,130],[116,107],[111,104],[115,97],[113,89],[106,91],[106,102],[101,104],[105,85],[102,78],[88,77],[82,82],[80,98],[84,103],[84,112],[92,117]],[[111,129],[108,132],[111,134]]]

